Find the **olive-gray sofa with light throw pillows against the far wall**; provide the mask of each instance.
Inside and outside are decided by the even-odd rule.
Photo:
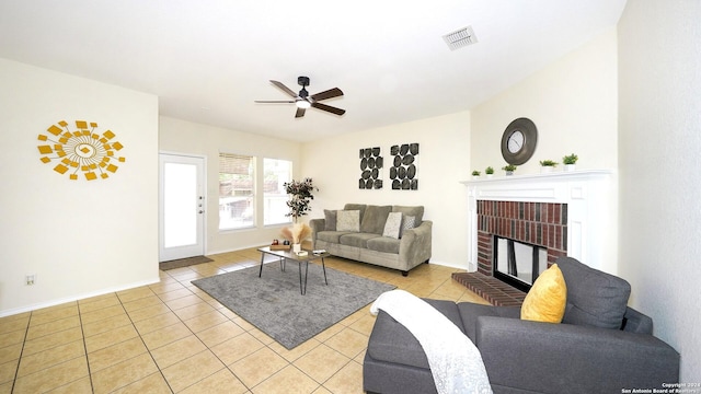
[[[342,210],[324,210],[324,219],[312,219],[309,225],[314,250],[406,276],[430,259],[433,222],[423,217],[423,206],[346,204]]]

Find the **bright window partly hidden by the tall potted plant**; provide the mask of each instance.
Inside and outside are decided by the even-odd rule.
[[[288,160],[263,160],[263,223],[281,224],[289,223],[291,217],[287,207],[288,196],[285,193],[285,183],[292,179],[292,162]]]

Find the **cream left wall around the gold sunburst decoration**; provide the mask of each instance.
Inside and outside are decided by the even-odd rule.
[[[158,281],[158,99],[0,59],[0,315]],[[58,174],[37,136],[60,120],[111,129],[126,162]]]

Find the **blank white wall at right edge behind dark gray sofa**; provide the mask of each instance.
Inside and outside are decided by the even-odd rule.
[[[618,26],[621,275],[701,382],[701,2],[630,0]]]

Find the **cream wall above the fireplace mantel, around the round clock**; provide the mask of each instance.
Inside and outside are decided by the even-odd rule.
[[[502,135],[512,120],[527,117],[538,128],[538,146],[515,176],[538,174],[541,160],[559,162],[555,171],[562,171],[562,157],[570,153],[579,157],[577,170],[612,170],[611,193],[606,201],[612,215],[604,225],[607,243],[599,246],[601,260],[589,263],[612,274],[618,273],[617,111],[618,57],[613,28],[474,107],[470,144],[472,170],[483,172],[491,165],[495,176],[504,176]]]

